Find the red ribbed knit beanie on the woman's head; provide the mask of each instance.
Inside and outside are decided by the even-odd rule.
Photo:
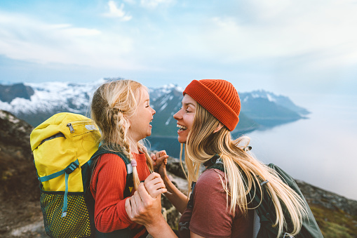
[[[197,103],[233,131],[238,124],[241,100],[236,88],[223,79],[194,80],[184,89]]]

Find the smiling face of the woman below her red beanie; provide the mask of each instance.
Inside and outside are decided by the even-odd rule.
[[[182,107],[173,118],[177,120],[177,127],[180,129],[177,131],[179,143],[186,143],[189,131],[194,124],[194,114],[196,112],[196,101],[191,98],[190,95],[185,94],[182,99]]]

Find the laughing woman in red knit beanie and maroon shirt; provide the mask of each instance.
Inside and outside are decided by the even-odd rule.
[[[307,215],[302,199],[273,170],[248,153],[246,138],[231,139],[230,132],[236,128],[241,110],[234,86],[221,79],[194,80],[183,94],[182,108],[174,118],[180,128],[178,140],[185,145],[187,180],[189,185],[197,181],[189,204],[187,196],[166,176],[165,163],[159,168],[168,190],[166,197],[182,213],[180,237],[252,237],[253,208],[248,193],[252,189],[261,191],[261,180],[269,180],[266,185],[274,202],[279,236],[287,229],[283,207],[292,218],[290,234],[297,234]],[[166,159],[159,154],[156,157],[158,163]],[[215,161],[223,164],[225,173],[210,168]],[[200,176],[201,164],[208,169]],[[153,237],[175,237],[152,209],[156,203],[142,187],[126,201],[128,216],[144,224]],[[148,208],[152,211],[145,210]]]

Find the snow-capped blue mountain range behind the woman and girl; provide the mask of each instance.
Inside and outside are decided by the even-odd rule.
[[[74,112],[88,117],[90,98],[103,82],[105,79],[86,84],[46,82],[0,85],[0,109],[15,114],[32,126],[41,124],[58,112]],[[176,135],[173,114],[181,107],[182,91],[183,88],[174,84],[149,88],[151,106],[156,110],[153,135]],[[237,131],[252,131],[259,126],[295,121],[308,113],[289,98],[267,91],[239,95],[242,106]]]

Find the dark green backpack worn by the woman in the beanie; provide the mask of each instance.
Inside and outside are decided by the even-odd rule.
[[[220,160],[219,155],[215,155],[212,157],[209,161],[205,163],[205,165],[208,165],[208,168],[217,168],[220,169],[221,171],[224,171],[224,166],[222,161]],[[306,199],[304,198],[304,195],[300,191],[299,187],[295,183],[295,180],[283,169],[279,168],[275,164],[269,164],[268,165],[270,168],[273,168],[278,175],[281,177],[284,183],[289,185],[289,187],[292,188],[299,196],[304,200],[305,206],[307,206],[308,210],[308,217],[304,218],[302,220],[302,227],[299,232],[299,234],[295,235],[295,238],[323,238],[323,234],[321,233],[320,228],[318,227],[318,224],[316,223],[316,220],[314,218],[314,215],[311,212],[311,209],[309,207],[309,204],[307,204]],[[207,169],[208,169],[207,168]],[[224,171],[225,172],[225,171]],[[259,193],[258,191],[250,191],[250,197],[254,197],[252,200],[252,206],[257,207],[255,209],[255,218],[254,218],[254,225],[253,225],[253,238],[255,237],[262,237],[262,238],[276,238],[278,237],[278,229],[276,227],[273,227],[272,225],[275,223],[276,220],[276,212],[274,209],[274,204],[273,201],[269,196],[269,191],[267,189],[264,189],[264,183],[267,183],[267,181],[261,181],[261,186],[263,187],[263,194]],[[255,194],[255,195],[254,195]],[[262,203],[260,204],[261,198]],[[189,204],[192,204],[192,202]],[[288,220],[289,224],[289,220]],[[288,232],[285,232],[285,234],[282,235],[282,237],[292,237]]]

